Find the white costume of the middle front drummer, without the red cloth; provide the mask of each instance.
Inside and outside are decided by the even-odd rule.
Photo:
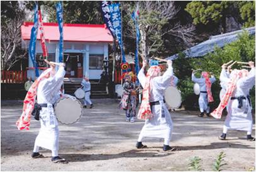
[[[169,145],[172,136],[172,118],[164,103],[164,91],[170,85],[170,80],[173,76],[173,69],[169,67],[163,76],[156,76],[151,80],[152,88],[150,90],[150,102],[159,101],[160,104],[153,105],[153,118],[146,119],[145,124],[140,132],[138,141],[142,141],[145,137],[150,138],[164,138],[164,144]],[[138,73],[138,79],[145,86],[146,76],[142,68]]]

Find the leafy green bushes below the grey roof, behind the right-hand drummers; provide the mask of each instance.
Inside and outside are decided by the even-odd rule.
[[[183,58],[181,57],[180,60]],[[180,62],[179,59],[174,61],[174,65]],[[202,58],[191,58],[186,59],[187,62],[183,63],[183,66],[178,66],[177,76],[181,76],[186,80],[178,83],[179,89],[181,92],[184,91],[184,95],[182,99],[184,100],[184,105],[187,108],[192,105],[189,104],[189,100],[192,99],[192,81],[191,81],[191,68],[193,69],[203,69],[203,71],[211,71],[214,73],[217,81],[212,86],[213,98],[214,102],[211,103],[211,107],[215,108],[220,103],[220,73],[221,73],[221,65],[223,63],[227,63],[230,60],[233,61],[255,61],[255,36],[250,36],[247,32],[240,34],[240,37],[237,41],[233,43],[227,44],[224,48],[215,48],[213,53],[206,54]],[[179,61],[179,62],[176,62]],[[177,68],[177,67],[175,67]],[[187,69],[187,73],[182,71],[182,68]],[[233,68],[240,69],[240,65],[235,64]],[[253,109],[255,109],[255,87],[251,90],[250,93]],[[198,106],[198,104],[194,104],[194,106]]]

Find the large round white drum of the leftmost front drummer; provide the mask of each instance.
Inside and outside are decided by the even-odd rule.
[[[82,116],[82,104],[74,96],[64,94],[64,96],[55,103],[54,111],[60,123],[73,124]]]

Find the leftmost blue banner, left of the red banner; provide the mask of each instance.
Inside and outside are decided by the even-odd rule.
[[[37,37],[37,31],[38,31],[38,4],[35,4],[34,8],[34,25],[31,28],[31,34],[30,34],[30,48],[28,49],[28,53],[30,54],[31,61],[33,62],[33,66],[35,68],[36,77],[39,76],[38,67],[36,64],[36,37]]]

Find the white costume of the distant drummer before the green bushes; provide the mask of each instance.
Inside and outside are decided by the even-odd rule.
[[[209,78],[209,79],[211,81],[211,84],[213,84],[216,81],[214,76]],[[192,73],[192,81],[194,83],[198,83],[199,84],[200,92],[201,91],[206,92],[206,81],[205,81],[205,78],[196,78],[196,76],[194,76],[194,73]],[[201,113],[204,113],[204,111],[206,111],[206,113],[209,113],[207,93],[200,93],[199,94],[198,104],[199,104],[199,108],[200,108],[200,112]]]

